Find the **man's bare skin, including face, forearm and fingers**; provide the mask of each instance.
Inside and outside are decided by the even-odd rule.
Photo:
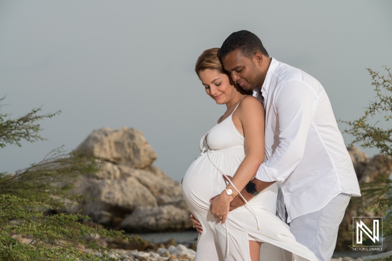
[[[241,53],[240,49],[235,49],[222,59],[222,63],[224,69],[240,87],[245,90],[253,90],[255,88],[260,90],[270,67],[271,58],[263,55],[261,52],[256,52],[252,59],[249,59]],[[252,182],[256,184],[256,190],[259,193],[275,183],[275,181],[265,182],[256,178],[252,179]],[[253,195],[248,193],[245,188],[241,191],[241,195],[244,196],[246,201],[253,198]],[[212,197],[210,202],[217,196]],[[230,211],[244,204],[243,199],[240,196],[236,196],[230,203]],[[194,224],[197,232],[201,234],[203,229],[200,222],[193,215],[191,215],[191,222]]]

